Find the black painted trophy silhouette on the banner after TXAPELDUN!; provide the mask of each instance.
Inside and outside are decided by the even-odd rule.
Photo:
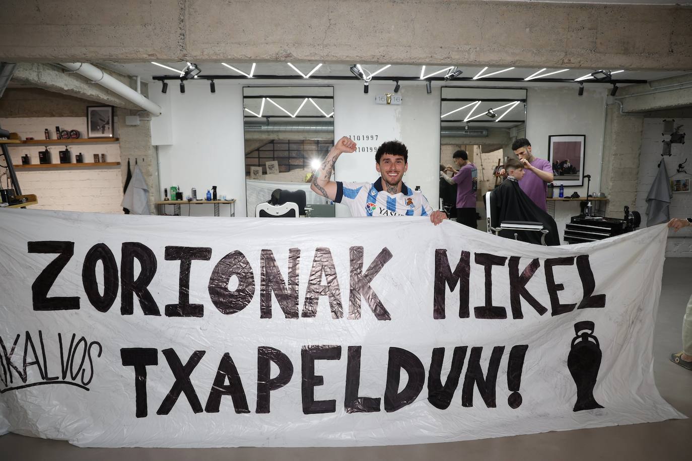
[[[567,368],[570,369],[576,384],[576,403],[574,411],[603,408],[594,399],[594,386],[601,368],[601,347],[599,339],[593,335],[594,322],[581,321],[574,323],[576,337],[572,339],[570,355],[567,356]]]

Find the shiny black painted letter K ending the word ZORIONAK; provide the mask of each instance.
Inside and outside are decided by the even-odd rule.
[[[377,274],[380,273],[382,267],[392,259],[392,252],[388,247],[384,247],[382,251],[374,258],[370,266],[363,274],[363,247],[351,247],[349,250],[351,260],[351,283],[349,291],[349,319],[361,318],[361,296],[365,298],[365,302],[370,306],[370,310],[375,314],[378,320],[391,320],[390,313],[385,308],[382,301],[372,289],[370,283]]]

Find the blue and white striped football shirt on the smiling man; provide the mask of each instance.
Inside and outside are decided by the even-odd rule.
[[[401,182],[399,194],[382,189],[382,178],[370,182],[336,182],[336,203],[349,207],[351,216],[429,216],[432,208],[421,191]]]

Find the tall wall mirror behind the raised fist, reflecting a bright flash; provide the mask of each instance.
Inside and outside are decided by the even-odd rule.
[[[298,200],[290,192],[304,191],[309,216],[334,216],[334,203],[310,190],[334,145],[334,87],[247,86],[243,112],[248,216],[277,189]]]

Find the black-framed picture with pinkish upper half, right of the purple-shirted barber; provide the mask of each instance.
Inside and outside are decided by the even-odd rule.
[[[553,166],[556,186],[584,185],[586,135],[548,136],[548,160]]]

